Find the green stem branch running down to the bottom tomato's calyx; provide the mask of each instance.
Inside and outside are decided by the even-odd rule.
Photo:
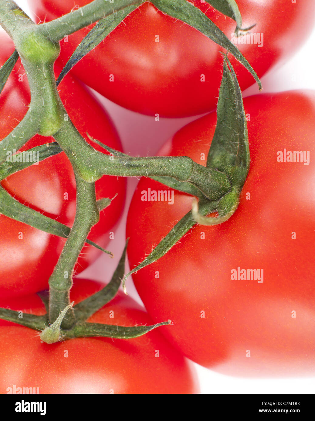
[[[69,291],[72,287],[73,268],[86,241],[92,226],[97,223],[100,213],[97,208],[95,184],[86,183],[75,176],[77,189],[77,205],[75,220],[65,243],[54,272],[49,278],[49,320],[56,320],[59,312],[70,304]],[[69,309],[67,320],[63,320],[62,327],[73,326],[75,316],[73,309]]]

